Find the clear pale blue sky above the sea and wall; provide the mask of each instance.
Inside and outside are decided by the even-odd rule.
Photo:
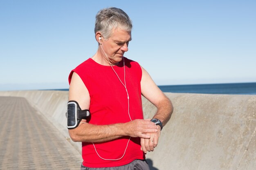
[[[255,0],[1,0],[0,91],[68,88],[106,7],[132,19],[125,56],[157,85],[256,82]]]

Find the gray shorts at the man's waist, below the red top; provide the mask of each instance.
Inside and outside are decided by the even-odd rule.
[[[123,166],[107,167],[107,168],[88,168],[81,165],[81,170],[150,170],[146,160],[136,159],[131,163]]]

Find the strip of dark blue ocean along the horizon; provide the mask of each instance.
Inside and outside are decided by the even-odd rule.
[[[256,95],[256,83],[192,84],[158,86],[163,92]],[[54,89],[68,91],[68,89]]]

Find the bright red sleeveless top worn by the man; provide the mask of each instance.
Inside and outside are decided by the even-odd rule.
[[[141,67],[137,62],[127,58],[123,60],[125,60],[126,88],[130,100],[130,117],[132,120],[143,119],[140,86]],[[113,68],[124,83],[123,60]],[[81,77],[90,94],[92,117],[89,124],[107,125],[130,121],[126,89],[111,66],[103,66],[89,58],[71,71],[69,82],[73,72],[76,72]],[[128,139],[129,137],[121,137],[94,145],[102,158],[119,159],[124,155]],[[83,165],[90,168],[126,165],[135,159],[145,159],[144,152],[140,148],[140,138],[131,138],[124,157],[117,161],[112,161],[101,159],[92,143],[82,142]]]

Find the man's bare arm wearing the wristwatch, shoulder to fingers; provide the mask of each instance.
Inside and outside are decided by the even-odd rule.
[[[141,94],[157,107],[157,113],[152,119],[159,119],[162,122],[162,125],[165,126],[173,113],[173,105],[170,99],[168,99],[168,97],[166,97],[166,95],[164,95],[158,88],[148,72],[142,67],[141,69]],[[141,138],[141,150],[145,153],[154,150],[158,144],[158,139],[161,133],[160,129],[159,126],[157,132],[149,133],[150,139]]]

